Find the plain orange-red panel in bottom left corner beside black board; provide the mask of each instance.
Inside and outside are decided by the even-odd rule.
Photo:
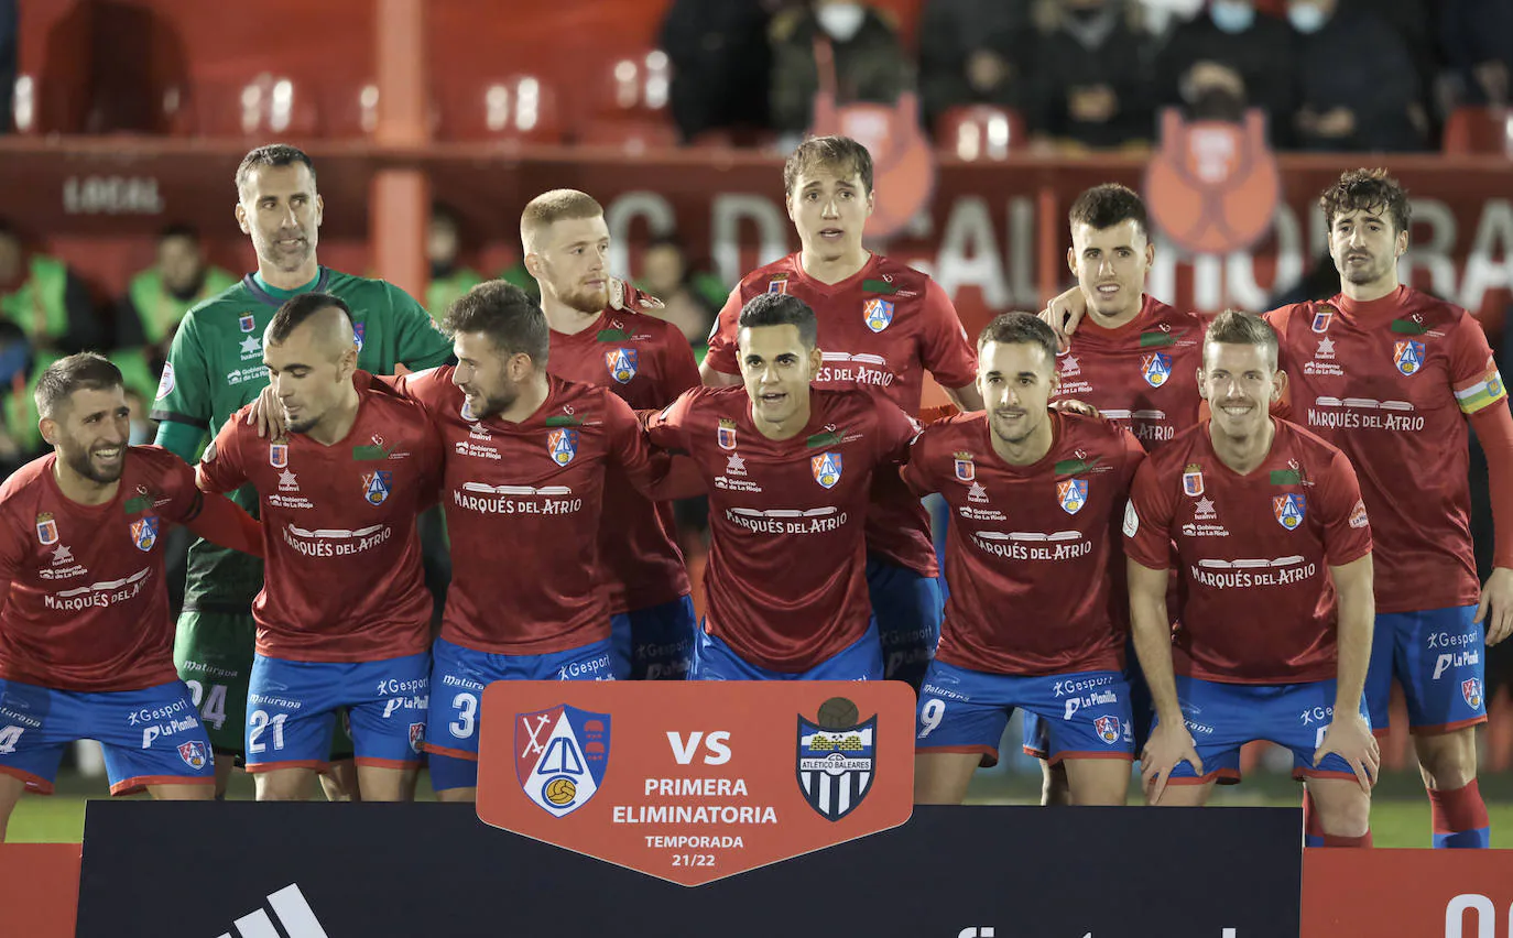
[[[0,933],[74,938],[79,844],[0,844]]]

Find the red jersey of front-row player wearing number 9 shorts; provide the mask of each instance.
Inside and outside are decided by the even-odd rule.
[[[1055,442],[1029,466],[993,451],[982,413],[932,424],[909,449],[903,481],[950,505],[950,598],[935,652],[947,664],[999,675],[1124,666],[1108,570],[1123,561],[1118,523],[1145,451],[1109,421],[1050,419]]]

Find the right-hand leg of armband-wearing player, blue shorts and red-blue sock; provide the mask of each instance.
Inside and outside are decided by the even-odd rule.
[[[1409,731],[1433,818],[1436,847],[1490,846],[1477,782],[1478,723],[1487,720],[1486,643],[1477,607],[1404,613],[1398,663]]]

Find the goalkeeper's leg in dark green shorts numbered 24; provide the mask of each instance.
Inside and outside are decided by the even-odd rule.
[[[174,634],[174,667],[189,687],[215,752],[215,796],[225,797],[247,737],[247,682],[257,623],[253,616],[185,611]]]

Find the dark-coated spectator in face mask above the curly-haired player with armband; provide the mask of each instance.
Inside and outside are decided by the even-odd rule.
[[[1362,5],[1288,0],[1298,38],[1300,150],[1422,150],[1421,88],[1403,39]]]

